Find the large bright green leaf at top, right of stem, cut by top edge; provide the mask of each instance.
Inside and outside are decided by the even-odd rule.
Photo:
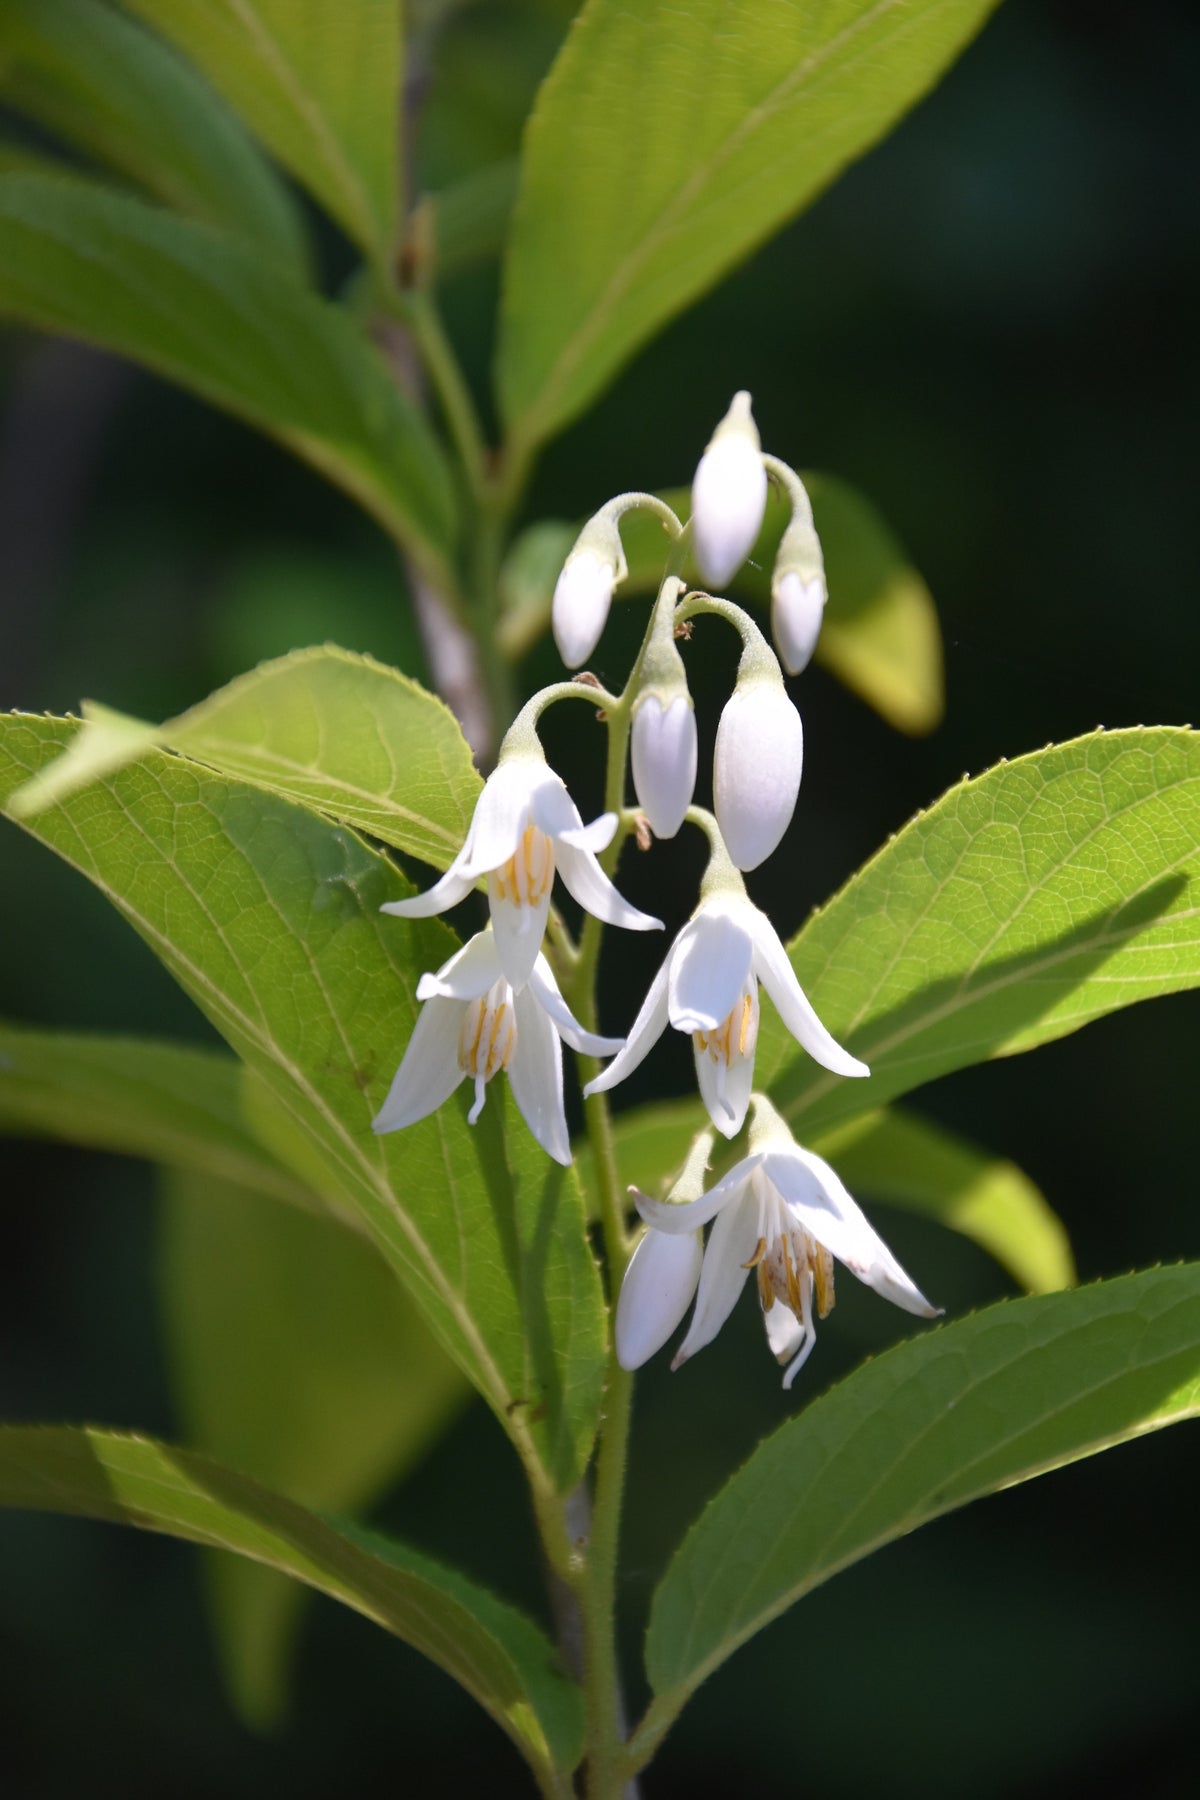
[[[497,382],[518,457],[914,104],[993,0],[588,0],[525,131]]]

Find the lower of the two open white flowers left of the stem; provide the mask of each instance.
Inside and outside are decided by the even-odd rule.
[[[416,1125],[468,1078],[475,1082],[475,1103],[468,1112],[473,1125],[488,1082],[506,1069],[529,1130],[556,1163],[570,1163],[560,1039],[590,1057],[610,1057],[621,1039],[583,1030],[558,992],[547,959],[538,956],[529,985],[513,990],[488,927],[435,976],[421,976],[417,999],[425,1001],[421,1017],[372,1130]]]

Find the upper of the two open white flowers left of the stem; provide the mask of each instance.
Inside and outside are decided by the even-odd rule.
[[[380,911],[430,918],[457,905],[486,875],[500,972],[515,988],[524,988],[542,949],[554,869],[579,905],[604,923],[662,931],[662,920],[621,898],[596,860],[596,851],[612,842],[615,830],[612,812],[585,826],[579,808],[542,756],[506,756],[488,776],[466,842],[443,878],[412,900],[389,900]]]

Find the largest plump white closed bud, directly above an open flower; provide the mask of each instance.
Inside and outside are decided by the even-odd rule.
[[[804,729],[783,680],[739,680],[716,727],[712,794],[725,848],[757,869],[792,823],[801,790]]]

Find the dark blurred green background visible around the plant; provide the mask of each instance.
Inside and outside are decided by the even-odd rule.
[[[563,13],[461,13],[441,54],[457,97],[435,90],[426,113],[428,185],[515,146]],[[1096,724],[1195,715],[1198,76],[1187,0],[1009,0],[932,101],[542,463],[531,518],[685,481],[745,385],[766,446],[858,482],[927,574],[946,637],[941,731],[901,740],[819,670],[795,684],[799,815],[752,877],[784,931],[963,770]],[[326,261],[336,283],[336,243]],[[495,279],[446,299],[482,378]],[[101,356],[11,337],[0,355],[0,704],[94,695],[166,716],[326,637],[419,670],[390,551],[349,502]],[[693,653],[709,742],[730,677],[718,641],[727,652],[714,628]],[[621,679],[631,648],[633,619],[613,625],[597,670]],[[527,684],[552,673],[538,653]],[[587,745],[551,740],[594,801]],[[205,1035],[83,882],[14,832],[0,855],[0,1012]],[[622,886],[675,925],[698,855],[680,841]],[[658,954],[622,941],[606,1028],[628,1024]],[[1135,1008],[918,1105],[1043,1186],[1085,1278],[1195,1256],[1198,1030],[1196,995]],[[687,1064],[673,1040],[621,1098],[684,1091]],[[173,1435],[149,1174],[47,1147],[4,1157],[0,1415]],[[968,1246],[878,1219],[952,1316],[1007,1291]],[[657,1570],[703,1498],[806,1395],[909,1328],[847,1278],[792,1397],[748,1300],[680,1375],[666,1359],[646,1372],[631,1667]],[[1193,1445],[1184,1429],[1126,1447],[840,1577],[702,1692],[648,1796],[752,1782],[896,1800],[1195,1793]],[[542,1607],[524,1496],[482,1408],[378,1517]],[[252,1739],[221,1697],[196,1561],[130,1532],[0,1521],[0,1759],[20,1796],[525,1791],[450,1681],[329,1602],[306,1622],[290,1730]]]

